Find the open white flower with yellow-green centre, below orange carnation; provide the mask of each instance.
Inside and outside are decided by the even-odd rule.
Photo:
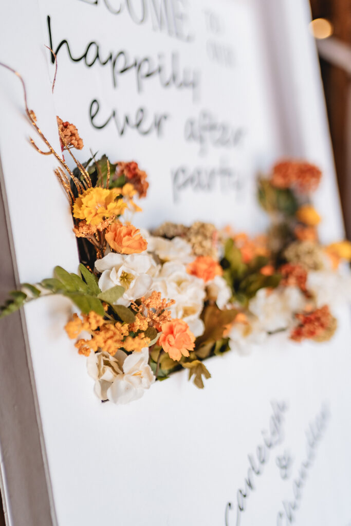
[[[110,252],[95,262],[95,267],[102,275],[99,287],[104,292],[116,285],[122,285],[126,290],[116,305],[128,307],[131,301],[145,296],[150,290],[153,276],[158,272],[158,266],[148,254],[114,254]]]

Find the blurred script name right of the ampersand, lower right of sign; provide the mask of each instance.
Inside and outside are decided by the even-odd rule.
[[[307,452],[306,459],[301,462],[298,469],[298,476],[293,480],[293,500],[283,501],[284,511],[279,511],[277,515],[277,526],[283,526],[283,524],[292,524],[295,522],[295,512],[298,510],[304,485],[308,472],[313,466],[313,462],[316,455],[316,448],[320,439],[323,438],[323,432],[326,428],[327,420],[329,418],[329,411],[326,406],[322,407],[322,410],[317,414],[313,422],[310,422],[309,428],[306,431],[307,439]]]

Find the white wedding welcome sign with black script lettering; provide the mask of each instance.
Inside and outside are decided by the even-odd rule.
[[[106,154],[147,172],[136,227],[205,221],[258,234],[268,221],[257,176],[295,156],[323,170],[314,202],[328,243],[343,227],[308,6],[260,4],[13,2],[2,8],[0,62],[23,77],[56,151],[58,115],[83,137],[73,150],[82,163]],[[76,272],[56,159],[29,143],[45,149],[23,116],[21,82],[5,69],[0,90],[6,265],[17,284],[40,282],[55,265]],[[75,167],[68,152],[65,160]],[[351,334],[347,307],[333,314],[329,341],[297,344],[278,332],[245,356],[206,361],[204,389],[182,371],[115,405],[96,398],[86,358],[62,330],[67,297],[26,305],[2,347],[2,414],[21,415],[0,433],[8,524],[347,526]],[[24,350],[9,368],[14,331]]]

